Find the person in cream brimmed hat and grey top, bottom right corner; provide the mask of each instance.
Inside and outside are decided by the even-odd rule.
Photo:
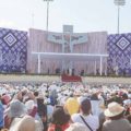
[[[103,131],[131,131],[131,124],[123,118],[124,108],[116,102],[108,105],[105,116],[108,118],[103,124]]]

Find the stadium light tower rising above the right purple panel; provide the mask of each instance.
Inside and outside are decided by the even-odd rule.
[[[126,4],[126,0],[115,0],[115,4],[118,7],[118,34],[119,34],[119,26],[120,26],[120,7]]]

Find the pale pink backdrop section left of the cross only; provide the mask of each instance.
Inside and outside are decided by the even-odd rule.
[[[29,29],[28,45],[27,45],[27,71],[28,73],[37,73],[38,59],[37,56],[32,55],[36,52],[61,52],[62,46],[60,44],[50,43],[47,40],[47,32],[41,29]],[[40,72],[53,74],[56,69],[61,67],[61,61],[49,60],[41,57]],[[48,71],[49,70],[49,71]]]

